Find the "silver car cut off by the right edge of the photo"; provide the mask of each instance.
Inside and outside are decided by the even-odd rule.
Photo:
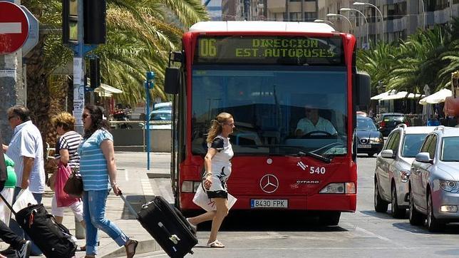
[[[410,223],[438,231],[459,222],[459,128],[438,126],[411,165]]]

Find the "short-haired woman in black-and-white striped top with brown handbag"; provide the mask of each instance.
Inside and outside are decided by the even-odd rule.
[[[79,167],[80,155],[78,155],[76,150],[78,149],[78,145],[80,145],[82,138],[79,133],[74,131],[75,118],[73,118],[73,115],[70,113],[62,112],[54,116],[52,122],[56,127],[58,135],[61,135],[56,143],[56,154],[54,155],[56,163],[62,162],[63,164],[68,164],[71,168]],[[68,207],[72,209],[76,220],[81,222],[84,227],[83,202],[76,199],[76,201]],[[64,206],[60,206],[58,204],[56,195],[54,195],[53,200],[51,201],[51,213],[54,217],[56,217],[56,222],[62,223],[63,209]]]

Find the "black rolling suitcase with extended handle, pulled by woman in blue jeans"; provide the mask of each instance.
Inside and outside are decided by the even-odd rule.
[[[163,197],[154,197],[151,202],[143,205],[139,212],[135,212],[123,195],[120,197],[167,255],[184,257],[187,253],[193,254],[191,249],[197,244],[197,238],[192,232],[191,225],[182,213]]]

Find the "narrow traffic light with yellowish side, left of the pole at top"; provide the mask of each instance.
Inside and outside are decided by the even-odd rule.
[[[62,1],[62,43],[78,43],[78,1]]]

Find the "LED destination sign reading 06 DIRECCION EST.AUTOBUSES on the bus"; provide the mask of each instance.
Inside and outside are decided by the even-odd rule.
[[[201,36],[195,63],[342,65],[340,37]]]

